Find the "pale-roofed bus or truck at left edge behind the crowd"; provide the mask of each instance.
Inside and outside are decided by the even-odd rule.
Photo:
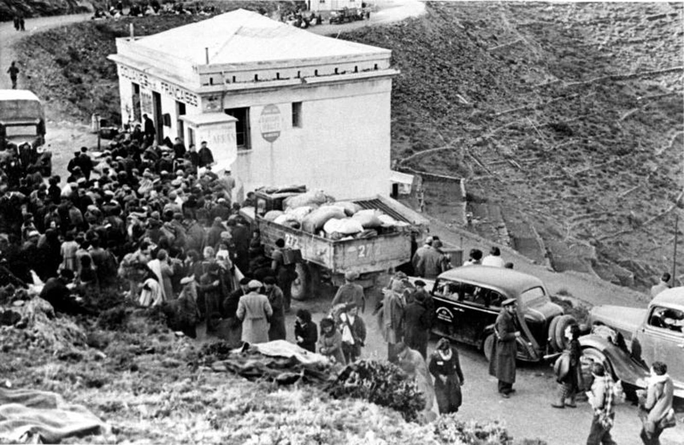
[[[44,153],[45,115],[36,94],[28,90],[0,90],[0,160],[16,160],[25,170],[36,165],[51,174],[50,154]]]

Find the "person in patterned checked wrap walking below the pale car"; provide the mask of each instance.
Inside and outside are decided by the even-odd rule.
[[[589,430],[587,445],[617,445],[610,435],[615,421],[615,407],[613,404],[613,379],[606,375],[605,368],[600,363],[592,364],[594,383],[587,392],[589,403],[594,409],[594,418]]]

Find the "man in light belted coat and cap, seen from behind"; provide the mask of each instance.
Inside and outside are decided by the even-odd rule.
[[[269,319],[273,308],[268,297],[259,291],[263,285],[257,280],[250,280],[247,287],[250,293],[240,297],[237,302],[237,319],[242,321],[242,341],[263,343],[268,341]]]

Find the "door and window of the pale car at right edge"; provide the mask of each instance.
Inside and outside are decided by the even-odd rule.
[[[684,385],[684,310],[653,306],[637,338],[646,364],[667,364],[672,379]]]

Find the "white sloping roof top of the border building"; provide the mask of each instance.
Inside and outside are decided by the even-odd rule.
[[[210,65],[391,54],[389,49],[318,36],[243,9],[137,38],[135,44],[198,65],[207,64],[207,51]]]

